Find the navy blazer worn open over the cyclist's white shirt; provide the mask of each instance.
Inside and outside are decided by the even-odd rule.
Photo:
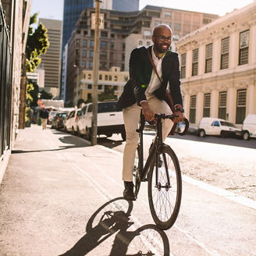
[[[151,53],[152,46],[149,47]],[[119,98],[117,107],[119,110],[146,100],[145,91],[151,80],[153,67],[148,58],[147,48],[144,46],[136,48],[130,54],[130,80],[127,81],[123,89],[123,94]],[[173,104],[182,105],[180,92],[180,62],[176,52],[167,51],[162,59],[162,86],[154,91],[155,97],[164,100],[167,84],[170,84],[170,93]]]

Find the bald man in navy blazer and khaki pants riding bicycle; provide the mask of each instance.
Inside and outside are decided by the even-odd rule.
[[[162,121],[162,139],[168,136],[173,123],[183,121],[183,102],[180,92],[180,62],[177,53],[169,50],[172,43],[172,30],[160,24],[153,30],[153,45],[148,48],[136,48],[130,55],[130,80],[126,83],[119,98],[118,108],[123,109],[126,129],[126,146],[123,152],[123,197],[135,200],[133,194],[133,164],[139,140],[136,129],[140,123],[140,110],[147,121],[154,120],[155,113],[172,114],[165,102],[166,87],[169,83],[174,104],[175,119]],[[172,123],[173,122],[173,123]]]

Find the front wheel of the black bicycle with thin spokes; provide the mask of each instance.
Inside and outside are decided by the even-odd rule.
[[[148,201],[160,229],[169,229],[180,211],[182,181],[180,164],[172,148],[163,144],[148,172]]]

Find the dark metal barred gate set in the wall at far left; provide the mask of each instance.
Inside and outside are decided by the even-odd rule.
[[[10,144],[11,62],[9,30],[0,2],[0,160]]]

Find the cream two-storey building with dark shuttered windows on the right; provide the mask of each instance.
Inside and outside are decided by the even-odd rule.
[[[256,114],[256,2],[195,30],[176,44],[190,123],[211,116],[241,124]]]

